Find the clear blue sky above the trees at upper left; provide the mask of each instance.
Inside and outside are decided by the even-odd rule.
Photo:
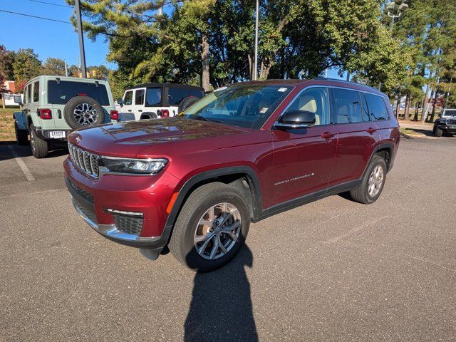
[[[42,4],[31,0],[0,0],[0,9],[14,11],[33,16],[69,21],[73,8],[65,0],[41,0],[61,6]],[[71,24],[58,23],[42,19],[19,16],[0,12],[2,34],[0,44],[8,50],[19,48],[33,48],[38,58],[44,61],[48,57],[62,58],[68,64],[77,64],[79,56],[78,33]],[[104,64],[108,68],[115,68],[115,64],[106,62],[108,43],[103,37],[95,42],[87,37],[86,64],[99,66]]]

